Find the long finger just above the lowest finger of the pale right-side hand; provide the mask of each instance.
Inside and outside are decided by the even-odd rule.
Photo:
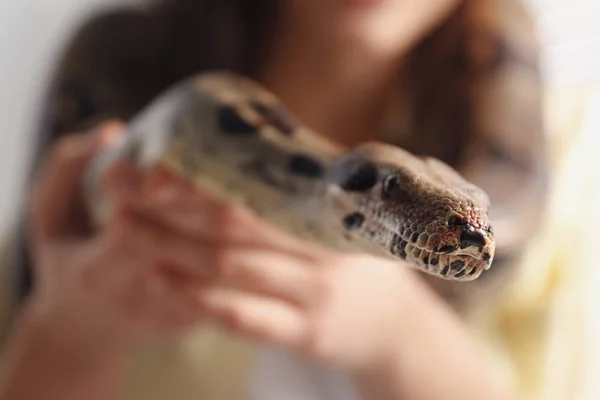
[[[197,280],[218,279],[238,289],[299,305],[310,304],[320,293],[320,271],[305,257],[250,245],[214,245],[190,240],[170,234],[132,213],[125,214],[121,223],[145,257]]]

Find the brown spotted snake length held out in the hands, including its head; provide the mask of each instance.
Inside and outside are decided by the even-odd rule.
[[[340,251],[406,260],[471,281],[490,268],[489,199],[447,164],[381,142],[343,148],[292,116],[258,83],[207,72],[164,92],[87,176],[98,222],[102,171],[117,159],[163,165],[276,226]]]

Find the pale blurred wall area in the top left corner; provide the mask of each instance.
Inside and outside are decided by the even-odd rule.
[[[9,229],[28,165],[47,63],[73,23],[107,0],[0,0],[0,234]]]

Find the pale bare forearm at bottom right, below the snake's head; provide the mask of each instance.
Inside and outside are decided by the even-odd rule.
[[[515,400],[478,353],[460,319],[433,293],[419,293],[417,298],[419,306],[410,313],[397,351],[357,379],[363,398]]]

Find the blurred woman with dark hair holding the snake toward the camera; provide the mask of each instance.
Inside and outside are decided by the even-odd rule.
[[[341,398],[513,398],[447,305],[472,303],[465,286],[427,285],[396,263],[301,243],[164,171],[142,175],[125,164],[105,177],[118,207],[106,231],[93,232],[79,182],[120,121],[192,73],[231,69],[331,140],[400,144],[485,188],[501,205],[506,246],[494,271],[468,288],[488,290],[513,275],[543,198],[528,24],[518,2],[493,0],[164,0],[89,22],[48,101],[15,261],[35,284],[25,279],[0,398],[114,398],[133,379],[140,347],[183,341],[209,322],[265,342],[267,353],[285,349],[288,365],[301,366],[301,355],[325,366],[325,379],[348,390]],[[514,220],[517,233],[503,229]],[[260,371],[260,354],[255,360],[250,369]],[[261,382],[241,381],[239,396],[281,398]],[[132,390],[128,398],[158,398]],[[209,392],[188,387],[180,398]],[[328,396],[313,397],[336,398]]]

